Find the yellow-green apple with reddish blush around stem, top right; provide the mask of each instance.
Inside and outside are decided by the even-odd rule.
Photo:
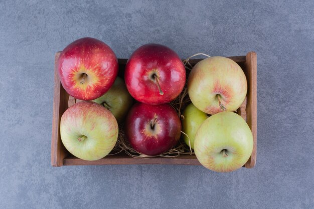
[[[210,115],[237,110],[245,99],[247,82],[241,67],[226,57],[198,62],[188,78],[192,103]]]

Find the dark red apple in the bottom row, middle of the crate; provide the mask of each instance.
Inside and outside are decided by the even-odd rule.
[[[181,122],[170,104],[136,103],[126,117],[125,135],[137,152],[155,156],[177,144],[181,135]]]

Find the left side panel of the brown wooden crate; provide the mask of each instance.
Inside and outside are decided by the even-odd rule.
[[[57,69],[57,61],[60,52],[55,56],[55,79],[54,79],[54,100],[53,100],[53,116],[52,116],[52,139],[51,139],[51,164],[52,166],[62,166],[63,159],[68,155],[68,151],[62,144],[60,137],[60,120],[62,114],[68,108],[68,93],[64,90],[60,83]]]

